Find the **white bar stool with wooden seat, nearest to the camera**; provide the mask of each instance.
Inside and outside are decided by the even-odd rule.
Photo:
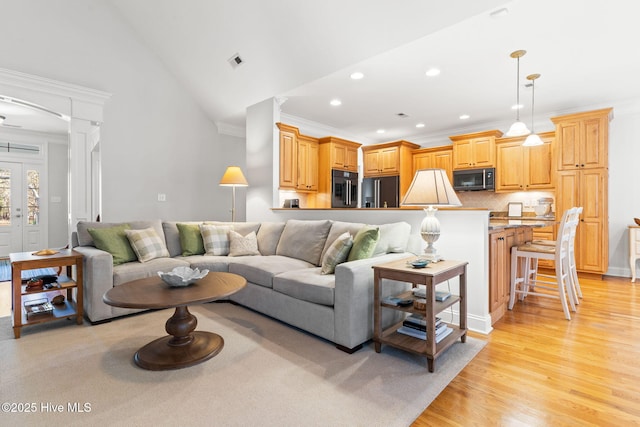
[[[569,261],[572,221],[575,221],[577,208],[568,209],[562,215],[558,237],[554,246],[533,242],[511,248],[511,293],[509,310],[513,309],[516,295],[524,300],[527,295],[559,299],[564,316],[571,320],[571,311],[576,311],[574,288],[571,284]],[[555,261],[555,275],[538,272],[538,260]],[[567,304],[567,300],[569,304]]]

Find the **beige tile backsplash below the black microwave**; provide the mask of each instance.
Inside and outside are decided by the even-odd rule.
[[[551,197],[555,200],[552,191],[517,191],[514,193],[496,193],[493,191],[460,191],[456,192],[466,208],[487,208],[490,211],[506,212],[510,202],[521,202],[524,212],[533,212],[533,207],[538,204],[538,199]],[[555,212],[555,203],[551,206]]]

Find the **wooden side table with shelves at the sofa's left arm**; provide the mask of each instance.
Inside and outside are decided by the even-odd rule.
[[[13,319],[13,334],[20,338],[23,326],[52,320],[75,317],[78,325],[82,325],[84,315],[82,307],[82,254],[72,249],[62,249],[54,255],[34,255],[32,252],[16,252],[9,254],[11,261],[11,317]],[[71,267],[76,266],[76,280],[71,278]],[[22,283],[22,271],[38,268],[67,267],[67,275],[58,277],[58,285],[50,289],[27,291]],[[76,289],[75,300],[73,289]],[[53,311],[27,316],[24,303],[39,299],[51,301],[56,295],[65,296],[63,305],[54,305]]]

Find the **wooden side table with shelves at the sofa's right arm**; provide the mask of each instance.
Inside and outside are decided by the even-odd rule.
[[[393,261],[386,264],[374,265],[374,342],[377,353],[380,353],[382,344],[391,345],[401,348],[405,351],[421,354],[427,357],[429,372],[433,372],[435,359],[438,358],[454,344],[458,338],[462,342],[467,338],[467,262],[466,261],[440,261],[432,263],[427,268],[416,269],[407,265],[409,259]],[[445,301],[436,301],[435,287],[438,283],[454,277],[460,278],[459,295],[451,295]],[[425,285],[426,287],[426,307],[418,310],[413,306],[400,307],[396,305],[386,304],[382,301],[382,279],[397,280],[400,282],[408,282],[415,288],[417,285]],[[403,299],[417,299],[413,296],[412,291],[404,292],[397,295]],[[436,315],[441,311],[459,303],[460,321],[459,325],[448,326],[453,332],[445,337],[442,341],[436,343],[435,322]],[[411,336],[403,335],[396,330],[402,326],[402,322],[392,325],[389,328],[382,329],[382,309],[388,308],[400,310],[406,313],[415,313],[424,316],[427,324],[427,339],[422,340]]]

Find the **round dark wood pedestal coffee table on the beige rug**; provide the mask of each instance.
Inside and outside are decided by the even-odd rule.
[[[134,360],[144,369],[161,371],[186,368],[211,359],[224,347],[218,334],[194,331],[198,320],[187,305],[202,304],[229,296],[247,285],[244,277],[210,272],[194,284],[174,288],[160,277],[148,277],[109,289],[102,300],[124,308],[162,309],[175,307],[167,320],[168,336],[158,338],[138,350]]]

